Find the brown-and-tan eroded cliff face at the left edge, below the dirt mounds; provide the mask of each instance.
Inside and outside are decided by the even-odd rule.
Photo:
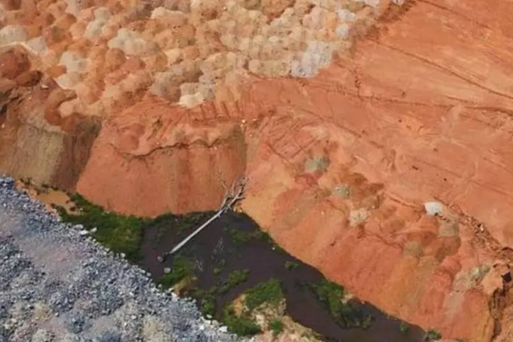
[[[42,79],[25,49],[3,53],[0,65],[0,172],[74,189],[100,123],[80,114],[55,117],[56,103],[70,95]]]

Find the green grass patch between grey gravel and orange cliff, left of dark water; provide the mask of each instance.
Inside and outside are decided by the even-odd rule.
[[[96,227],[97,230],[92,236],[98,242],[113,252],[124,253],[129,261],[140,260],[143,226],[148,219],[107,212],[103,207],[88,202],[79,194],[72,195],[71,200],[79,208],[76,215],[69,215],[63,207],[56,206],[64,222],[82,224],[88,229]]]

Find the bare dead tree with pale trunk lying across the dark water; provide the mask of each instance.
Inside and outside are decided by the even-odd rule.
[[[226,213],[226,211],[232,209],[233,206],[237,202],[239,202],[239,200],[244,199],[244,191],[246,190],[247,183],[248,183],[248,179],[246,178],[246,176],[243,176],[243,177],[240,177],[239,179],[236,179],[232,183],[231,187],[228,189],[228,187],[226,187],[226,184],[224,183],[224,181],[221,180],[221,184],[222,184],[225,192],[224,192],[224,196],[223,196],[223,199],[222,199],[222,202],[221,202],[221,205],[220,205],[218,211],[216,211],[211,216],[211,218],[209,218],[209,220],[207,220],[204,224],[199,226],[196,229],[196,231],[192,232],[189,236],[185,237],[185,239],[183,239],[183,241],[181,241],[179,244],[174,246],[174,248],[172,250],[163,254],[162,257],[159,257],[158,258],[159,261],[162,262],[168,256],[178,252],[183,246],[185,246],[185,244],[187,244],[187,242],[189,242],[193,237],[198,235],[198,233],[200,233],[200,231],[202,231],[206,226],[211,224],[215,219],[219,218],[222,214]]]

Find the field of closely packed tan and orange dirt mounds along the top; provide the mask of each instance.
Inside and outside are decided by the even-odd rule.
[[[367,4],[368,3],[368,4]],[[23,44],[77,92],[59,112],[116,114],[149,93],[194,107],[238,98],[248,73],[309,77],[347,51],[379,1],[5,3],[0,45]]]

